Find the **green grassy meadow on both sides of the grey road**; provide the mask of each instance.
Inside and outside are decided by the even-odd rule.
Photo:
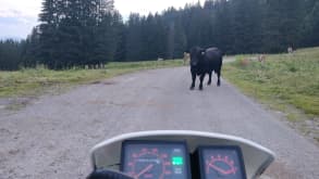
[[[255,57],[254,57],[255,56]],[[0,98],[35,95],[48,87],[94,82],[116,75],[182,66],[182,60],[113,62],[105,69],[50,71],[45,67],[0,72]],[[293,54],[266,55],[260,63],[256,55],[237,55],[223,67],[223,76],[244,93],[289,112],[298,108],[309,116],[319,116],[319,48],[297,50]],[[291,120],[297,113],[289,113]]]

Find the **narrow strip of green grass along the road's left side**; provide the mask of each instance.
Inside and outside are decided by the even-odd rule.
[[[0,72],[0,98],[37,95],[53,86],[93,82],[143,69],[181,66],[182,60],[109,63],[105,69],[49,71],[44,67]]]

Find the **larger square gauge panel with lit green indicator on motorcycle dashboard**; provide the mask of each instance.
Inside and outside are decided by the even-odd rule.
[[[189,179],[184,142],[125,141],[121,170],[136,179]]]

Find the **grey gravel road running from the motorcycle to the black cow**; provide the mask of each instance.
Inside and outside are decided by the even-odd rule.
[[[0,179],[85,178],[93,145],[152,129],[243,137],[277,153],[265,178],[319,178],[318,146],[278,114],[225,81],[204,91],[191,91],[189,85],[186,67],[146,71],[45,95],[14,114],[1,111]]]

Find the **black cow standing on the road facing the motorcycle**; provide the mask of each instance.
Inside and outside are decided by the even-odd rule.
[[[206,74],[209,75],[208,85],[211,85],[211,74],[213,71],[218,76],[217,86],[220,86],[222,56],[223,54],[218,48],[201,49],[196,47],[191,50],[191,73],[193,79],[191,90],[195,88],[197,75],[200,79],[199,90],[203,90],[203,81]]]

